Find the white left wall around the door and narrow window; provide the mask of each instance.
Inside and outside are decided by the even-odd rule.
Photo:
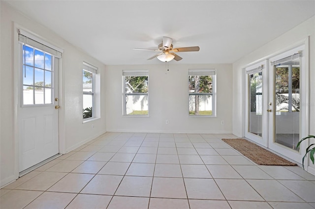
[[[44,26],[28,19],[12,9],[5,2],[0,1],[0,186],[9,183],[17,177],[16,170],[16,141],[17,131],[14,130],[17,92],[17,57],[16,56],[16,28],[37,34],[45,41],[62,48],[62,70],[60,71],[60,140],[63,143],[61,152],[70,151],[84,142],[91,140],[106,131],[105,93],[96,92],[100,96],[98,109],[100,119],[82,123],[82,63],[93,64],[98,68],[100,88],[105,85],[105,66],[85,52],[64,41],[57,34]],[[92,129],[92,123],[94,129]]]

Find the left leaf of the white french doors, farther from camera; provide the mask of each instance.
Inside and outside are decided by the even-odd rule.
[[[268,127],[265,109],[267,98],[267,61],[251,65],[246,72],[246,127],[245,137],[267,146]]]

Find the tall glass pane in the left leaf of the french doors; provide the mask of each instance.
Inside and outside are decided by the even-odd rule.
[[[249,75],[249,132],[262,136],[262,72]]]

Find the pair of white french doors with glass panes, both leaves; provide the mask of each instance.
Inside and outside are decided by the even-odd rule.
[[[245,137],[301,162],[308,134],[304,45],[245,69]],[[269,63],[269,64],[268,64]]]

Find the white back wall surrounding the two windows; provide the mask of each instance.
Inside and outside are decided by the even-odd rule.
[[[148,61],[149,62],[149,61]],[[175,62],[175,61],[172,61]],[[232,131],[231,64],[106,66],[107,131],[230,133]],[[189,117],[188,69],[217,69],[217,117]],[[123,70],[149,71],[149,117],[123,116]],[[165,124],[165,120],[169,124]],[[224,121],[224,125],[221,125]]]

